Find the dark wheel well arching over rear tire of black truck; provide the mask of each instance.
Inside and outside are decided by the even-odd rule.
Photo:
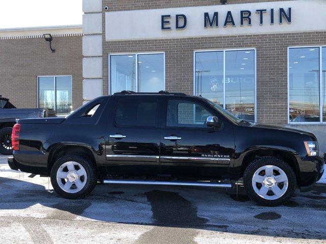
[[[70,154],[85,157],[96,167],[96,160],[91,149],[84,146],[60,145],[50,150],[49,158],[47,160],[48,173],[50,174],[53,164],[55,164],[59,158]]]

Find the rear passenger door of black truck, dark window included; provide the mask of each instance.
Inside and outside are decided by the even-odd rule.
[[[117,96],[114,106],[106,145],[108,174],[159,174],[158,96]]]

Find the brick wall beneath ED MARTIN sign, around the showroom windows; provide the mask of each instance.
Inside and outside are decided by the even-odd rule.
[[[326,44],[326,32],[104,42],[103,78],[107,94],[107,54],[166,53],[166,89],[193,94],[194,50],[257,49],[257,120],[287,124],[287,47]]]

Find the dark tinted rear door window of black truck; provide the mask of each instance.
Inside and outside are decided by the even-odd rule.
[[[154,99],[121,99],[115,121],[118,126],[148,126],[156,124],[157,101]]]

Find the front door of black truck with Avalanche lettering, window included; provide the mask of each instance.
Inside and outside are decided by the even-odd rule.
[[[227,176],[234,153],[232,125],[199,99],[169,99],[161,132],[161,169],[172,177]],[[223,122],[221,130],[206,126],[209,115]]]

